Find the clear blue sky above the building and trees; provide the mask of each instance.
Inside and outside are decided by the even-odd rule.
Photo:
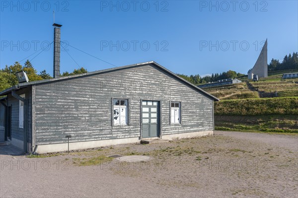
[[[1,68],[35,53],[27,59],[52,75],[53,44],[46,46],[53,41],[53,10],[63,25],[61,72],[113,67],[73,47],[115,66],[155,61],[188,75],[246,73],[266,38],[268,62],[298,51],[297,0],[0,3]]]

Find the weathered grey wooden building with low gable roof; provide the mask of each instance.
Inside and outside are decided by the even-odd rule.
[[[3,138],[46,153],[214,130],[218,99],[155,62],[25,82],[0,92]]]

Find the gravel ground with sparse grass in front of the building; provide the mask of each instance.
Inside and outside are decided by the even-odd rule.
[[[150,160],[107,157],[115,154]],[[0,160],[1,198],[298,197],[297,134],[215,132],[34,158],[2,153]]]

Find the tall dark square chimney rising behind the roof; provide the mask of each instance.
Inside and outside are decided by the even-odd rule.
[[[53,77],[60,77],[60,42],[61,42],[61,29],[62,25],[57,23],[53,24],[54,26],[54,68],[53,68]]]

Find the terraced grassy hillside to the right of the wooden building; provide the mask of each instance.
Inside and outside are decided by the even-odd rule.
[[[298,133],[298,79],[281,80],[289,72],[298,70],[270,71],[258,82],[244,75],[238,78],[242,83],[203,88],[221,99],[214,105],[215,129]],[[279,97],[259,98],[258,91],[277,91]]]

